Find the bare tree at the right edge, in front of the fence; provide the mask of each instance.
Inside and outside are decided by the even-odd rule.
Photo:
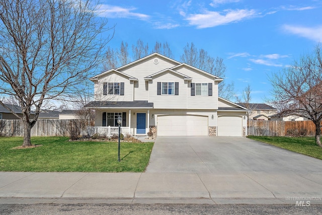
[[[303,55],[300,60],[272,74],[271,101],[282,113],[297,113],[313,121],[315,143],[322,147],[322,56],[317,45],[313,53]]]

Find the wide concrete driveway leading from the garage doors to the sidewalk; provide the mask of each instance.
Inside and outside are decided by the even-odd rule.
[[[245,137],[158,136],[147,173],[314,174],[322,161]]]

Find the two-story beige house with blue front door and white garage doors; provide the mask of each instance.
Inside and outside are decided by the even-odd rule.
[[[158,53],[90,79],[95,125],[159,136],[245,136],[248,110],[218,97],[219,77]]]

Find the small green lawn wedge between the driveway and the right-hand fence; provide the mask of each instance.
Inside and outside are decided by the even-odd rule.
[[[322,160],[322,148],[314,142],[314,137],[287,137],[287,136],[247,136],[250,139],[266,142],[283,149],[301,153]]]

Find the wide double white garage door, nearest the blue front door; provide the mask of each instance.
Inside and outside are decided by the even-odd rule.
[[[157,116],[158,136],[208,136],[208,116]]]

